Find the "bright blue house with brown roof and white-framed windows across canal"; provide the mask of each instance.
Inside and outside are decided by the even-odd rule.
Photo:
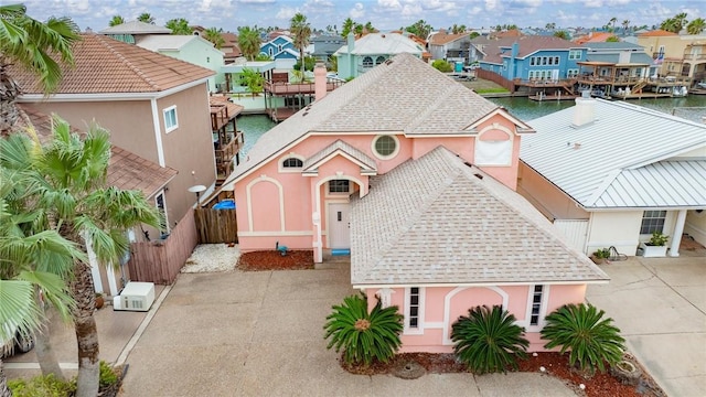
[[[587,49],[555,36],[477,37],[471,42],[471,61],[484,71],[506,79],[559,81],[578,75],[578,62]]]

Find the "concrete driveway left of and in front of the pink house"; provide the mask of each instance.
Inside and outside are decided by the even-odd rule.
[[[575,396],[538,374],[344,372],[323,323],[355,293],[347,268],[180,275],[127,357],[121,396]]]

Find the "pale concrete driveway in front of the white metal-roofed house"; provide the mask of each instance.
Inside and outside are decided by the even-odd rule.
[[[629,350],[668,396],[704,396],[706,257],[634,257],[601,268],[610,283],[590,286],[588,301],[616,320]]]

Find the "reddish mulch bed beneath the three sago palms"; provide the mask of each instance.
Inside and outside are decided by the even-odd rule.
[[[361,375],[378,375],[393,374],[396,367],[406,362],[415,362],[421,365],[427,373],[467,373],[466,366],[456,361],[453,354],[436,354],[436,353],[402,353],[397,354],[389,363],[383,364],[374,362],[368,367],[347,365],[341,360],[343,369]],[[537,356],[528,355],[527,360],[521,360],[520,372],[539,373],[539,367],[545,367],[546,373],[563,379],[579,396],[587,397],[665,397],[666,394],[656,385],[643,368],[643,375],[640,384],[635,386],[623,385],[610,375],[608,372],[596,374],[590,377],[584,377],[578,371],[573,369],[568,365],[568,354],[559,353],[537,353]],[[481,375],[482,376],[482,375]],[[586,386],[585,390],[579,385]]]

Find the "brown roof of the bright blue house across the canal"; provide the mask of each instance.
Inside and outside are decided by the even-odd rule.
[[[485,57],[482,62],[490,63],[503,63],[504,56],[510,56],[510,51],[505,53],[501,52],[501,47],[511,47],[513,43],[518,43],[520,49],[517,57],[524,58],[537,51],[552,51],[552,50],[569,50],[581,49],[584,45],[576,44],[568,40],[564,40],[556,36],[546,35],[523,35],[521,37],[503,37],[503,39],[480,39],[471,41],[472,44],[481,45],[482,52]]]

